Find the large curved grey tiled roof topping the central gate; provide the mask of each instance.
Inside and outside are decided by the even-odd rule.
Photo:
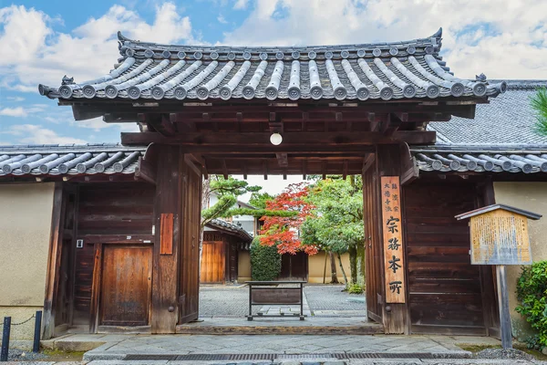
[[[59,88],[62,99],[411,99],[495,96],[505,84],[455,77],[442,32],[405,42],[322,47],[193,47],[119,34],[119,66]]]

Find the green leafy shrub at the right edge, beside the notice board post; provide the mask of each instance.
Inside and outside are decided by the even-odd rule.
[[[522,267],[517,298],[521,302],[517,312],[537,331],[536,336],[527,340],[529,348],[547,347],[547,261]]]

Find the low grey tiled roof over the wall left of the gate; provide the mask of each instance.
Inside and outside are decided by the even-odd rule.
[[[0,176],[131,174],[145,151],[119,144],[0,146]]]

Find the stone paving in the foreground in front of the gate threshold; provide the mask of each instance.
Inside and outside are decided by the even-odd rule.
[[[536,360],[478,360],[457,344],[499,345],[496,339],[455,336],[208,336],[208,335],[68,335],[57,342],[104,342],[70,365],[369,365],[369,364],[500,364],[545,363]],[[434,359],[420,359],[420,354]],[[133,355],[182,355],[181,360],[123,360]],[[269,360],[190,360],[214,354],[273,354]],[[347,359],[375,354],[373,359]],[[398,355],[397,355],[398,354]],[[186,357],[184,357],[186,356]],[[392,358],[382,358],[392,357]],[[397,356],[397,358],[394,358]],[[355,357],[355,356],[354,356]],[[422,355],[423,357],[423,355]],[[459,359],[450,359],[459,357]],[[464,359],[464,357],[467,357]],[[187,360],[185,360],[187,359]],[[30,364],[28,362],[26,364]],[[14,362],[14,365],[25,362]],[[36,365],[53,362],[39,362]],[[61,363],[57,363],[61,365]]]

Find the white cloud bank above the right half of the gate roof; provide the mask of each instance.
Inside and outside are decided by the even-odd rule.
[[[547,78],[545,14],[547,2],[532,0],[257,0],[222,44],[397,41],[443,26],[443,55],[457,76]]]

